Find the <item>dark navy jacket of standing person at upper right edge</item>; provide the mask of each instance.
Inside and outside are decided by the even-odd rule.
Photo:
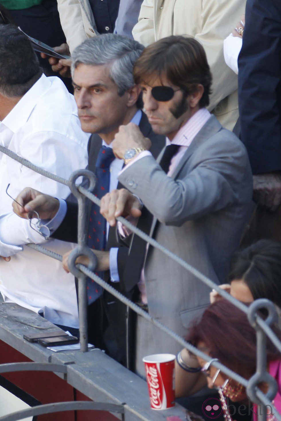
[[[238,67],[241,140],[252,171],[281,171],[280,1],[247,1]]]

